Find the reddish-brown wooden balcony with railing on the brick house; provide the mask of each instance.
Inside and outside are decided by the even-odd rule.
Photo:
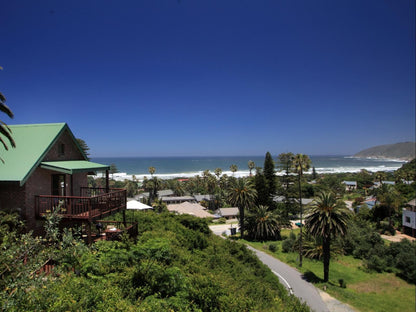
[[[82,196],[35,196],[35,211],[38,218],[61,209],[66,220],[93,221],[111,213],[126,209],[127,194],[124,189],[81,188]]]

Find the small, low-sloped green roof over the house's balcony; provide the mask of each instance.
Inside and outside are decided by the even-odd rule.
[[[110,166],[93,163],[86,160],[69,160],[69,161],[43,161],[40,163],[41,168],[54,170],[66,174],[76,172],[90,172],[109,170]]]

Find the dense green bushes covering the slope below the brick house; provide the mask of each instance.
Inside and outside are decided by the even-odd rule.
[[[56,216],[55,216],[56,217]],[[49,224],[59,222],[49,218]],[[245,246],[214,237],[204,220],[128,215],[137,242],[91,247],[50,227],[45,239],[1,224],[0,304],[8,311],[308,311]],[[58,218],[59,219],[59,218]],[[41,273],[52,259],[52,274]]]

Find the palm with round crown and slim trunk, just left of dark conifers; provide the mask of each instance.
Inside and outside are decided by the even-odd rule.
[[[229,204],[239,210],[241,238],[244,237],[244,211],[254,206],[256,196],[253,185],[245,179],[237,179],[228,190]]]

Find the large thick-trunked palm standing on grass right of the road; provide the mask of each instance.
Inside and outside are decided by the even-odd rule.
[[[337,200],[332,192],[323,192],[315,199],[305,220],[306,230],[316,239],[322,239],[324,282],[329,279],[331,239],[345,235],[350,215],[343,201]]]

